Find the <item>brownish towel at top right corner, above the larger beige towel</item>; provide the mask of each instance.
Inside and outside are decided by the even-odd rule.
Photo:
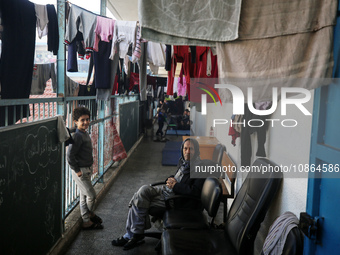
[[[336,0],[242,0],[239,39],[264,39],[335,25]]]

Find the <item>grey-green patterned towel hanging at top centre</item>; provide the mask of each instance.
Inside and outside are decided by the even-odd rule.
[[[174,45],[213,46],[238,37],[241,0],[138,1],[142,38]]]

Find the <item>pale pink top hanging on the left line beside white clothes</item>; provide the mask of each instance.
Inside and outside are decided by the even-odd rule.
[[[97,16],[97,25],[94,30],[96,37],[94,39],[93,50],[98,51],[98,43],[100,40],[110,42],[113,37],[115,21],[113,19]]]

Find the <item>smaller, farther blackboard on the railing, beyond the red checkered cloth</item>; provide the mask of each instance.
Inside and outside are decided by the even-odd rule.
[[[139,130],[139,101],[119,105],[119,134],[126,152],[137,142]]]

